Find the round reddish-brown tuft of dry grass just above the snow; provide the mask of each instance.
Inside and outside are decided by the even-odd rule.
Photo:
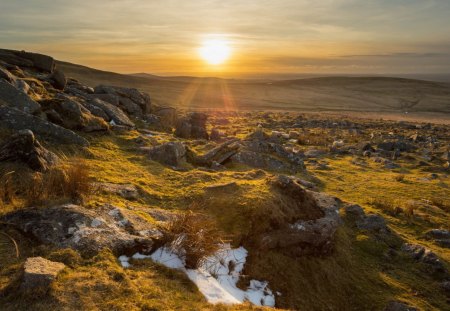
[[[223,243],[216,222],[192,211],[177,215],[165,228],[165,236],[175,253],[184,254],[189,268],[197,268]]]

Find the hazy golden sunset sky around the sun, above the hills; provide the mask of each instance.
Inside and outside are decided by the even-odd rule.
[[[0,47],[121,73],[448,74],[450,0],[0,0]]]

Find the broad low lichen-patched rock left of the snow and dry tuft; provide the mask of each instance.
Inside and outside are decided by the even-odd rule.
[[[140,218],[137,214],[134,217]],[[26,208],[6,214],[1,221],[57,248],[73,248],[94,256],[109,248],[115,254],[150,252],[160,238],[155,226],[141,219],[146,230],[135,230],[133,219],[118,208],[105,205],[95,210],[78,205]]]

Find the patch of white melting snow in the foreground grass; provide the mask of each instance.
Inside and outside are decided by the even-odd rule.
[[[151,255],[136,253],[132,258],[151,258],[168,268],[180,269],[210,303],[239,304],[249,301],[257,306],[274,307],[275,296],[267,282],[251,280],[247,290],[237,287],[247,255],[243,247],[232,249],[229,244],[223,244],[216,254],[206,258],[197,269],[186,269],[184,259],[167,247],[161,247]],[[119,261],[125,268],[130,265],[127,256],[120,256]]]

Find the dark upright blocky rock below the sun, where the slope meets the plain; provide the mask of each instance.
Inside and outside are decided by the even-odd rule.
[[[177,122],[175,135],[181,138],[208,139],[206,120],[208,115],[201,112],[192,112]]]

